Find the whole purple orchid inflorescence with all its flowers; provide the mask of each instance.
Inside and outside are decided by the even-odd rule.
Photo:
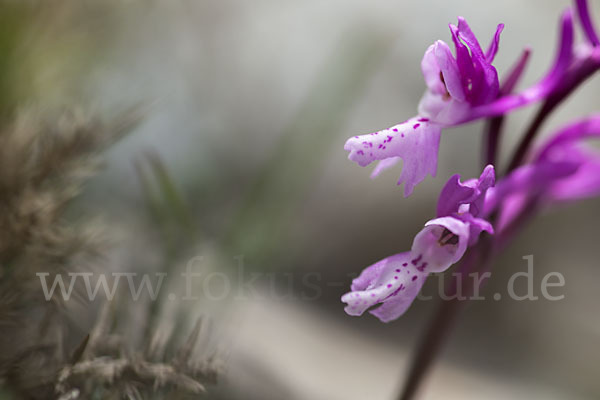
[[[484,51],[467,22],[450,24],[455,53],[443,41],[425,52],[421,69],[427,89],[418,115],[389,129],[350,138],[344,149],[360,166],[379,161],[372,177],[402,160],[398,184],[404,195],[429,174],[435,176],[441,131],[445,127],[487,119],[487,162],[478,179],[452,176],[443,187],[437,215],[415,236],[408,252],[366,268],[342,296],[349,315],[370,311],[383,322],[400,317],[418,295],[427,276],[464,259],[465,253],[495,254],[541,209],[560,202],[600,195],[600,153],[583,141],[600,137],[600,113],[567,124],[539,146],[532,142],[555,107],[600,69],[600,39],[586,0],[575,1],[584,40],[575,44],[574,12],[560,20],[554,64],[533,86],[515,92],[529,59],[523,50],[502,84],[492,65],[499,48],[496,32]],[[495,163],[504,116],[541,102],[506,173],[496,180]],[[486,240],[482,232],[487,232]],[[485,251],[481,251],[484,247]],[[490,244],[491,243],[491,244]],[[489,251],[489,249],[492,251]]]

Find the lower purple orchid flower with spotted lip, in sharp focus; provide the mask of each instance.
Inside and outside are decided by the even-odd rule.
[[[487,166],[479,179],[448,180],[438,201],[437,218],[428,221],[415,236],[410,251],[385,258],[366,268],[342,296],[349,315],[370,311],[382,322],[400,317],[410,307],[430,273],[443,272],[458,262],[482,231],[492,225],[479,216],[488,189],[494,185],[494,167]]]

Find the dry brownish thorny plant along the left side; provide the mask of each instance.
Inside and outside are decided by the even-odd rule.
[[[178,346],[172,319],[136,320],[147,327],[147,340],[132,346],[128,335],[139,326],[117,323],[125,300],[96,312],[84,304],[95,316],[86,334],[85,324],[73,323],[81,309],[58,293],[46,301],[35,280],[39,271],[103,267],[106,235],[93,221],[70,221],[68,206],[101,165],[100,153],[139,114],[104,123],[77,112],[26,109],[0,129],[0,385],[14,398],[182,398],[216,379],[218,360],[198,356],[198,339],[206,335],[200,321]],[[79,305],[83,298],[79,293]]]

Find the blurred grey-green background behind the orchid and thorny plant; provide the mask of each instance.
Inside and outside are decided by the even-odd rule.
[[[161,307],[164,315],[187,325],[208,318],[224,368],[206,398],[392,399],[438,305],[438,280],[424,288],[433,300],[390,324],[347,316],[339,298],[365,266],[410,247],[448,177],[479,174],[483,123],[444,131],[437,178],[410,198],[395,186],[399,168],[370,180],[370,167],[346,159],[344,141],[415,115],[423,52],[435,40],[450,42],[457,16],[484,44],[506,24],[495,63],[501,77],[521,49],[533,49],[524,87],[550,65],[568,6],[5,1],[0,102],[6,115],[33,104],[85,106],[105,118],[141,104],[141,122],[106,153],[69,218],[104,221],[115,242],[107,268],[169,272],[165,285],[178,300]],[[600,21],[600,6],[592,6]],[[598,111],[599,90],[597,80],[586,84],[544,135]],[[508,120],[502,162],[533,111]],[[469,304],[448,333],[421,398],[600,396],[599,210],[598,199],[551,210],[518,236],[494,265],[487,300]],[[543,276],[557,271],[563,300],[493,300],[526,270],[527,255],[537,294]],[[179,274],[194,257],[203,273],[229,278],[228,295],[207,296],[223,281],[198,279],[201,299],[179,301]],[[237,296],[250,280],[251,295]],[[97,307],[78,310],[69,323],[81,337]],[[123,312],[135,320],[134,307]]]

